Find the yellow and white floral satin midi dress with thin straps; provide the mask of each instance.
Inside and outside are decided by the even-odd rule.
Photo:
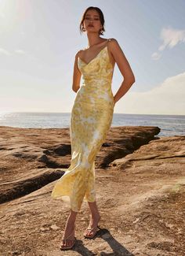
[[[78,212],[82,202],[96,201],[95,158],[111,128],[114,96],[111,91],[113,66],[108,55],[108,41],[93,60],[78,57],[83,83],[71,111],[71,165],[52,191],[52,197],[70,202]]]

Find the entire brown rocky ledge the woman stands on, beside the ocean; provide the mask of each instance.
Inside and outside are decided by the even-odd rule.
[[[101,230],[84,239],[89,209],[76,221],[77,244],[59,249],[69,213],[51,198],[71,160],[68,128],[0,127],[0,255],[184,255],[185,136],[151,126],[113,127],[96,156]]]

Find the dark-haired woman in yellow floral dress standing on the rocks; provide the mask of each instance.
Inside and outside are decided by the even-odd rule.
[[[63,233],[60,249],[71,249],[75,243],[74,227],[82,202],[88,202],[91,211],[89,227],[84,236],[96,235],[100,213],[96,206],[95,158],[111,127],[114,104],[135,82],[132,69],[116,39],[103,39],[102,11],[90,6],[80,24],[86,32],[89,46],[75,55],[72,89],[78,92],[71,112],[71,165],[53,188],[53,198],[68,196],[71,213]],[[115,62],[124,80],[113,96],[111,82]],[[83,76],[82,76],[83,75]],[[81,76],[84,80],[80,87]]]

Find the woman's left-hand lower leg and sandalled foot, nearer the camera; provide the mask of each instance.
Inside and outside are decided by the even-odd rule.
[[[78,212],[74,212],[73,210],[71,210],[71,213],[69,214],[69,216],[67,218],[67,222],[65,225],[62,239],[67,239],[67,237],[70,239],[74,239],[74,227],[75,227],[77,213]],[[63,247],[70,247],[71,243],[73,243],[73,240],[67,240],[67,241],[62,242],[61,245]]]

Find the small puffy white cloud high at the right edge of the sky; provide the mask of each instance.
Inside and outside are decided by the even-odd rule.
[[[185,43],[185,30],[178,30],[173,28],[162,28],[161,30],[161,40],[163,41],[161,46],[158,47],[158,51],[165,50],[165,48],[172,49],[178,43]],[[151,55],[153,60],[158,60],[161,58],[161,54],[155,52]]]

